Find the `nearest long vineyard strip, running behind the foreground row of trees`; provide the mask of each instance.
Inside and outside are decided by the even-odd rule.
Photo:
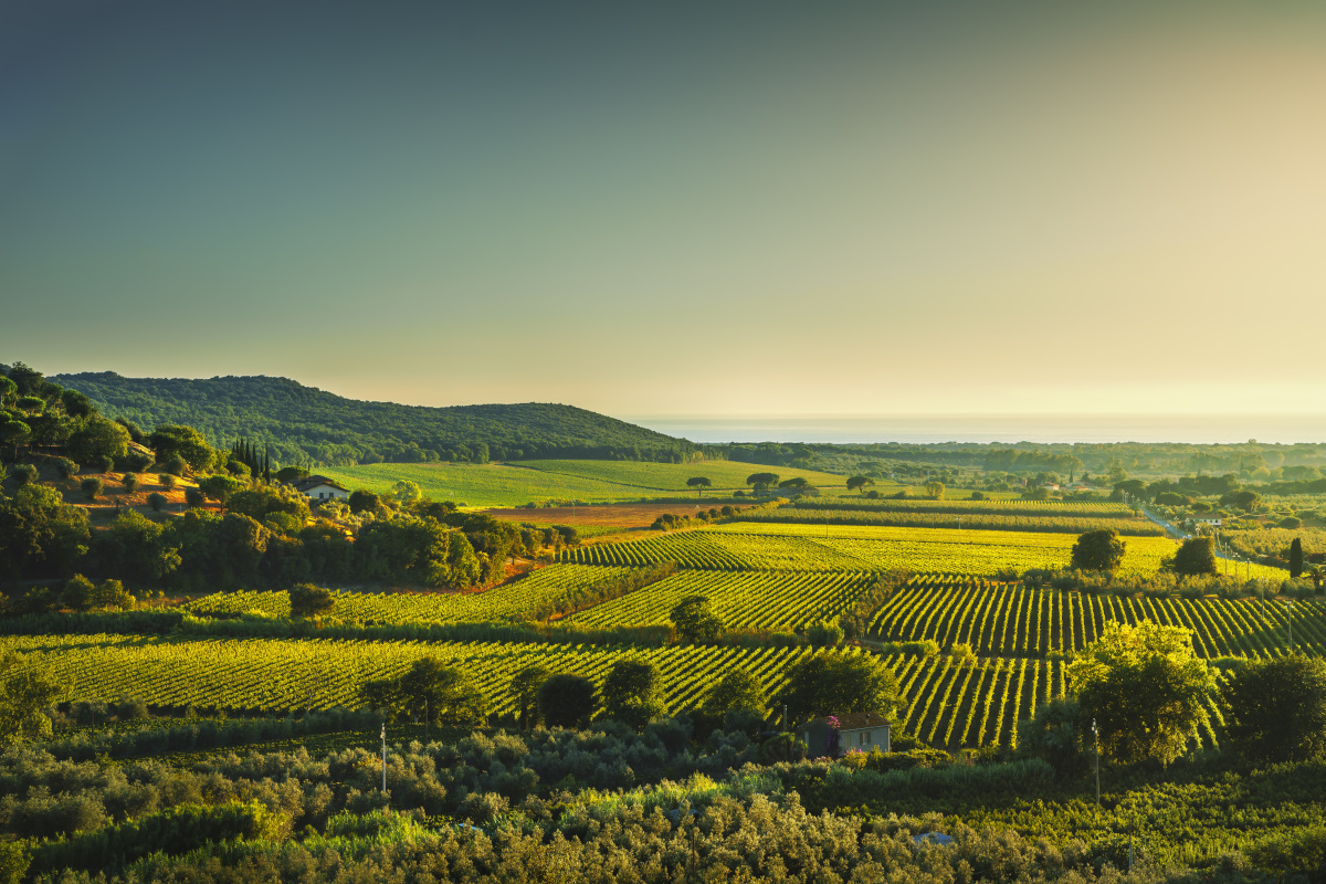
[[[464,663],[489,709],[511,712],[508,685],[517,669],[542,663],[602,681],[619,659],[652,661],[670,712],[693,708],[724,672],[744,667],[774,694],[788,667],[806,648],[757,651],[723,647],[654,649],[589,648],[558,644],[183,640],[130,636],[7,637],[0,648],[41,653],[42,665],[70,696],[90,700],[142,697],[170,706],[219,706],[243,712],[354,708],[358,687],[396,676],[424,656]],[[849,651],[854,653],[854,651]],[[1016,741],[1016,725],[1063,691],[1057,660],[953,657],[884,659],[898,676],[903,698],[898,721],[932,745],[979,747]],[[1209,728],[1205,741],[1212,741]]]

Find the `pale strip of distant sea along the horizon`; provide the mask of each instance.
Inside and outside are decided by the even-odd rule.
[[[1326,441],[1321,415],[623,416],[696,443],[1260,443]]]

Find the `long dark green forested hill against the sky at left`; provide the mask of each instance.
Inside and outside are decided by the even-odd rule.
[[[247,436],[282,464],[475,461],[522,457],[688,460],[696,447],[623,420],[548,403],[427,408],[359,402],[288,378],[52,376],[102,414],[150,431],[187,424],[213,445]]]

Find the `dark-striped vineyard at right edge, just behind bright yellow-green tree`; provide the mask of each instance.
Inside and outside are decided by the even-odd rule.
[[[886,640],[932,639],[941,647],[968,644],[976,653],[1005,657],[1079,651],[1109,620],[1152,620],[1192,630],[1199,656],[1278,656],[1294,647],[1326,652],[1326,603],[1298,602],[1290,612],[1252,599],[1174,599],[1029,590],[945,575],[914,578],[875,615],[871,632]]]

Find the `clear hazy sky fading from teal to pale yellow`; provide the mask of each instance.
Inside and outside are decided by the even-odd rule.
[[[1323,296],[1319,1],[0,4],[50,374],[1323,412]]]

